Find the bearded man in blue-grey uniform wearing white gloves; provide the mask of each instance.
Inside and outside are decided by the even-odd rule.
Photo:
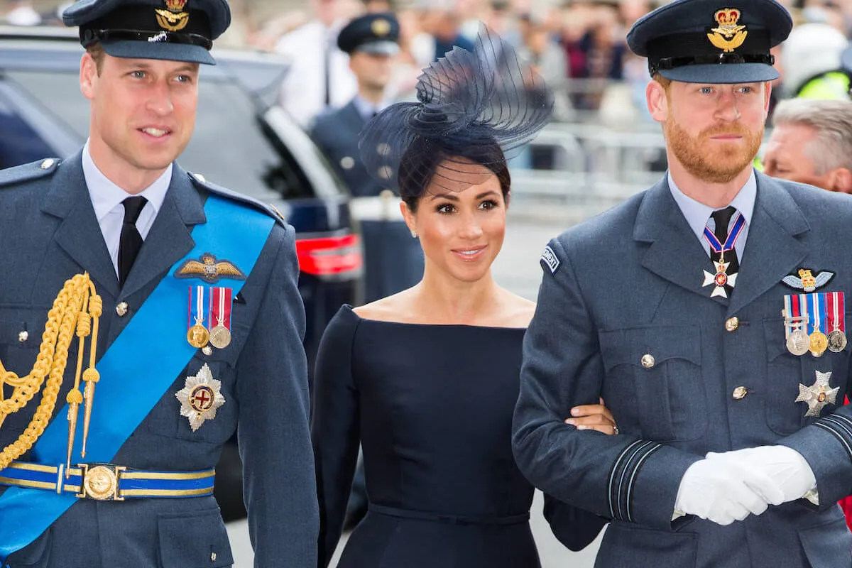
[[[852,201],[751,167],[791,26],[773,0],[638,20],[668,174],[544,250],[515,457],[612,519],[598,566],[852,566]],[[619,435],[563,422],[599,396]]]

